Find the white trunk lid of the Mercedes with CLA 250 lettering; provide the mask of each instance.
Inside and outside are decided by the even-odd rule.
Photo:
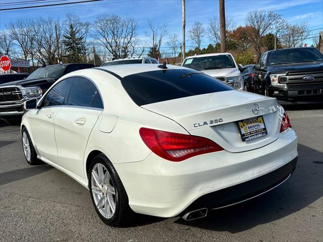
[[[259,107],[256,114],[252,111],[254,104]],[[274,142],[279,136],[283,115],[275,98],[236,90],[189,96],[141,107],[175,120],[191,135],[208,138],[230,152],[257,149]],[[242,141],[237,121],[260,115],[267,135]]]

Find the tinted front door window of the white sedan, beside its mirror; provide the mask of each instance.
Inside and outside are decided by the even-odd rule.
[[[42,103],[43,107],[49,107],[49,106],[58,106],[64,104],[64,98],[66,96],[66,93],[71,86],[73,80],[77,78],[71,77],[67,78],[58,84],[55,85],[50,91],[46,94],[44,97],[44,101]]]

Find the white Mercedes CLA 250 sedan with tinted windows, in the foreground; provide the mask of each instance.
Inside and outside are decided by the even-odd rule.
[[[279,186],[298,157],[275,98],[183,67],[75,71],[25,107],[27,162],[43,161],[88,188],[111,226],[135,213],[205,217]]]

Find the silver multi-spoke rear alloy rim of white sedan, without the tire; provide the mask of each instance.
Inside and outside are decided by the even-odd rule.
[[[96,163],[91,171],[91,191],[97,210],[107,219],[116,212],[116,190],[111,174],[101,163]]]

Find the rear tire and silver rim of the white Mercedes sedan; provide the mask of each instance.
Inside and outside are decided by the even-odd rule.
[[[131,222],[134,212],[129,206],[120,177],[109,159],[103,154],[95,156],[88,173],[91,200],[99,218],[113,227],[121,227]]]

